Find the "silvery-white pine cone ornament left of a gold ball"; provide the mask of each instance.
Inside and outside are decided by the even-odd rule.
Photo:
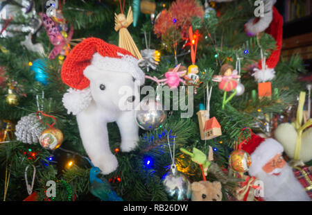
[[[15,126],[15,135],[18,141],[24,144],[36,144],[39,142],[39,137],[44,130],[44,126],[37,119],[36,114],[29,114],[21,117]]]

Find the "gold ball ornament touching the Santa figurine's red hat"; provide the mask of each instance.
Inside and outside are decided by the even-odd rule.
[[[248,171],[251,164],[251,157],[245,150],[234,150],[229,156],[229,165],[236,172],[244,173]]]

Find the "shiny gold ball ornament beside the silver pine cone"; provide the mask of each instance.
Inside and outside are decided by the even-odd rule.
[[[39,138],[40,145],[48,150],[54,150],[62,145],[63,133],[58,128],[46,128]]]

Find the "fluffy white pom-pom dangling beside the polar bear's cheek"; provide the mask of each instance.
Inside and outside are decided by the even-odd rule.
[[[67,109],[67,113],[79,114],[85,110],[92,101],[91,89],[89,87],[79,90],[69,88],[64,94],[62,102]]]

